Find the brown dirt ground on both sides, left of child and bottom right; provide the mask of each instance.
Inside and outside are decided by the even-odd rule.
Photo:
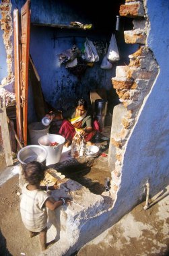
[[[1,157],[0,157],[1,158]],[[1,160],[0,173],[5,163]],[[40,255],[38,236],[29,238],[20,217],[19,175],[0,187],[0,255]],[[85,245],[77,256],[169,255],[169,193],[148,210],[141,203],[112,228]],[[47,251],[46,254],[47,255]],[[55,256],[55,255],[54,255]],[[56,253],[57,256],[57,253]]]

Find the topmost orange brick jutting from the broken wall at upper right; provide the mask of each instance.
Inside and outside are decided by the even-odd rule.
[[[144,17],[145,14],[143,9],[143,3],[141,2],[121,5],[119,13],[121,16],[130,18]]]

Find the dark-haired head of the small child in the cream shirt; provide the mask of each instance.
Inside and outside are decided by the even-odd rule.
[[[31,185],[38,184],[44,179],[45,170],[46,167],[36,161],[28,162],[23,166],[24,177]]]

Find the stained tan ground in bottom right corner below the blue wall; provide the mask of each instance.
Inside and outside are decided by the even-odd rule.
[[[83,246],[76,256],[168,256],[169,185]]]

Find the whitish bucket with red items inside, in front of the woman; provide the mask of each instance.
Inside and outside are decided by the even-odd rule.
[[[50,146],[51,143],[55,142],[59,144],[57,146]],[[65,138],[63,136],[58,134],[44,135],[38,139],[38,143],[48,152],[48,156],[46,158],[46,166],[49,164],[56,164],[60,161],[63,145],[65,143]]]

